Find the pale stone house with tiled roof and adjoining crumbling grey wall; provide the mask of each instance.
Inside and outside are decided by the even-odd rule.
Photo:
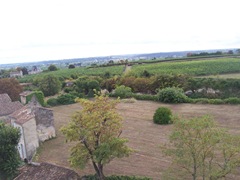
[[[35,96],[27,105],[9,115],[9,118],[11,125],[21,131],[18,144],[21,159],[32,159],[39,142],[56,136],[53,111],[42,107]]]

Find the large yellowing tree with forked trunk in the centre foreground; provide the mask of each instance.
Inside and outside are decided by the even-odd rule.
[[[98,96],[95,101],[78,100],[83,109],[61,131],[67,141],[76,141],[71,149],[70,162],[84,168],[91,160],[100,180],[105,179],[103,167],[114,158],[128,156],[132,151],[126,139],[120,138],[122,118],[116,112],[118,101]]]

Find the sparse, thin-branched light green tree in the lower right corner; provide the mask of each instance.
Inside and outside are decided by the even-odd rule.
[[[174,120],[170,142],[163,146],[173,159],[166,179],[226,178],[240,166],[239,135],[217,127],[209,116]]]

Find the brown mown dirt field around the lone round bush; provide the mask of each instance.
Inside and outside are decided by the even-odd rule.
[[[240,106],[232,105],[166,105],[149,101],[120,103],[118,111],[124,118],[122,136],[129,139],[129,146],[136,150],[128,158],[116,159],[105,167],[105,174],[148,176],[161,179],[161,173],[169,165],[169,161],[161,154],[159,145],[166,142],[172,125],[161,126],[152,122],[155,110],[160,106],[170,107],[175,114],[186,117],[212,115],[217,122],[240,134]],[[79,104],[53,108],[57,138],[45,142],[39,152],[39,161],[69,167],[68,157],[71,143],[65,143],[59,128],[68,123],[71,115],[80,109]],[[94,173],[91,164],[84,170],[76,170],[80,175]],[[240,172],[238,177],[240,179]]]

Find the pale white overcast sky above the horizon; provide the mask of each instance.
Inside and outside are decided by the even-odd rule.
[[[240,48],[238,0],[0,0],[0,64]]]

